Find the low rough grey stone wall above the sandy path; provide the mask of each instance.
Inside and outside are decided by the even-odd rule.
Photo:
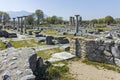
[[[76,39],[75,39],[76,40]],[[120,66],[120,40],[81,40],[81,53],[77,53],[76,42],[71,42],[71,53],[80,54],[90,61],[114,64]],[[73,40],[72,40],[73,41]],[[77,56],[77,55],[76,55]]]

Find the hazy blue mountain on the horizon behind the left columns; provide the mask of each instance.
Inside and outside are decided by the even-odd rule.
[[[16,18],[20,16],[28,16],[32,13],[27,11],[8,11],[8,14],[10,15],[11,18]]]

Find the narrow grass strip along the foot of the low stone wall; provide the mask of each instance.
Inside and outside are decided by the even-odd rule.
[[[87,65],[94,65],[98,69],[99,69],[99,67],[102,67],[104,69],[113,70],[113,71],[116,71],[116,72],[120,73],[120,67],[117,67],[117,66],[114,66],[114,65],[88,61],[87,59],[82,60],[82,62],[87,64]]]

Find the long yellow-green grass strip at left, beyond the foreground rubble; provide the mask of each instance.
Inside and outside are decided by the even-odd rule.
[[[45,45],[43,43],[37,43],[34,41],[34,39],[31,40],[21,40],[21,41],[10,41],[11,44],[15,47],[15,48],[20,48],[20,47],[36,47],[36,46],[40,46],[40,45]]]

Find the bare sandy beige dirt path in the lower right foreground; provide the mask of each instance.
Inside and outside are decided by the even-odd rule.
[[[72,62],[70,73],[77,80],[120,80],[120,73],[106,69],[97,69],[80,61]]]

